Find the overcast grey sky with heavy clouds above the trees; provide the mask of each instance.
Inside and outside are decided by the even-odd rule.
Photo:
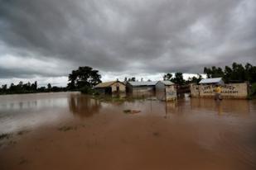
[[[65,86],[79,66],[103,80],[256,65],[255,0],[0,0],[0,84]]]

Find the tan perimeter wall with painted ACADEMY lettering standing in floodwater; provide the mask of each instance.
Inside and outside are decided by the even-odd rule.
[[[224,98],[247,98],[247,83],[229,83],[220,86],[221,96]],[[191,97],[214,97],[215,85],[193,85],[191,84]]]

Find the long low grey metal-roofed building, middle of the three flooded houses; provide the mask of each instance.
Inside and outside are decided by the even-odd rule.
[[[128,82],[127,91],[132,94],[155,92],[157,81],[152,82]]]

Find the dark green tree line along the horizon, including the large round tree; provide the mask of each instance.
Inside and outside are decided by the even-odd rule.
[[[204,68],[204,73],[207,78],[223,78],[225,83],[239,83],[247,81],[249,83],[256,83],[256,66],[252,64],[237,64],[233,63],[231,67],[225,66],[224,69],[220,67]],[[189,83],[199,83],[202,76],[198,74],[192,78],[185,80],[183,73],[166,73],[163,80],[169,80],[177,85],[186,85]],[[124,78],[124,82],[136,81],[136,78]],[[141,79],[143,81],[143,79]],[[147,80],[151,81],[151,80]],[[63,92],[63,91],[81,91],[85,93],[93,92],[93,88],[98,83],[101,83],[101,75],[99,70],[89,66],[79,67],[72,70],[69,74],[69,83],[67,87],[51,87],[48,83],[47,87],[37,87],[35,83],[18,83],[15,85],[11,83],[9,87],[7,84],[0,87],[0,94],[13,94],[13,93],[31,93],[31,92]]]

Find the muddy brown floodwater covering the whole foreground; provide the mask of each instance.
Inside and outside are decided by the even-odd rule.
[[[1,170],[256,169],[256,101],[7,95],[0,135]]]

